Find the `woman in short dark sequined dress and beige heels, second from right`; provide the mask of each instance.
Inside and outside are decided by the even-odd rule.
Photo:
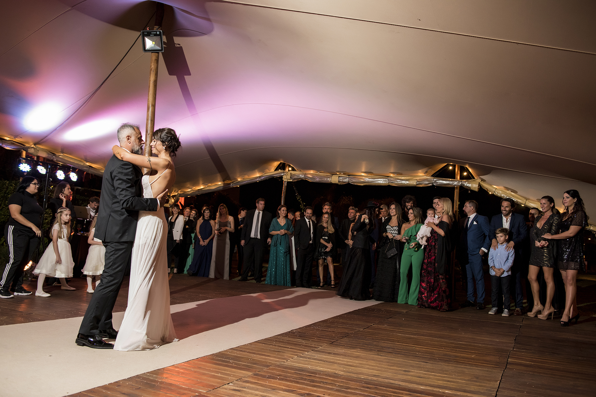
[[[557,245],[549,243],[544,235],[557,233],[561,214],[555,208],[555,201],[551,196],[544,196],[540,199],[540,209],[544,215],[536,217],[534,226],[530,229],[530,262],[527,271],[527,280],[532,287],[532,296],[534,306],[532,311],[527,312],[529,317],[538,315],[542,320],[546,320],[548,315],[554,312],[551,306],[552,297],[555,295],[555,282],[552,272],[554,271],[555,258],[557,257]],[[538,283],[538,273],[542,269],[544,282],[547,284],[547,297],[542,306],[540,302],[540,285]]]

